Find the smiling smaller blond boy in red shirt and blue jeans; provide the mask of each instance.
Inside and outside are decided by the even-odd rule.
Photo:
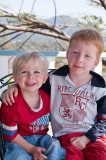
[[[65,150],[47,134],[49,95],[39,89],[48,78],[48,62],[39,53],[24,53],[13,62],[18,84],[15,103],[1,106],[5,160],[64,160]]]

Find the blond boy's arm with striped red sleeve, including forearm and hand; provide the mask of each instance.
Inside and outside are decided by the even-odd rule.
[[[26,150],[26,152],[28,152],[32,156],[33,160],[47,159],[46,156],[42,154],[42,152],[45,152],[45,148],[33,146],[18,133],[17,119],[19,119],[19,117],[16,114],[17,111],[15,108],[15,103],[9,107],[2,103],[0,110],[3,131],[5,133],[3,133],[4,139],[16,143],[17,145],[22,147],[24,150]],[[9,134],[10,132],[11,134]]]

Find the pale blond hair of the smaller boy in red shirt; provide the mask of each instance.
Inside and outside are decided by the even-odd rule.
[[[47,58],[38,53],[38,52],[26,52],[26,53],[21,53],[19,54],[13,61],[13,65],[12,65],[12,71],[13,71],[13,74],[16,76],[17,75],[17,72],[18,72],[18,69],[20,67],[23,67],[25,65],[27,65],[27,63],[30,61],[30,60],[33,60],[36,64],[39,64],[43,66],[43,69],[44,69],[44,72],[45,74],[48,72],[48,61],[47,61]]]

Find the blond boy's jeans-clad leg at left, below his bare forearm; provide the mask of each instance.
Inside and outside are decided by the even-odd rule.
[[[8,142],[5,144],[5,148],[4,160],[32,160],[32,157],[17,144]]]

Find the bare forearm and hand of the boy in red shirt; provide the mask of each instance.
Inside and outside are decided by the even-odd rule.
[[[27,142],[20,134],[18,134],[13,140],[11,140],[12,143],[15,143],[19,145],[21,148],[23,148],[26,152],[28,152],[33,160],[45,160],[47,159],[47,156],[42,154],[42,152],[45,152],[45,148],[36,147]]]

